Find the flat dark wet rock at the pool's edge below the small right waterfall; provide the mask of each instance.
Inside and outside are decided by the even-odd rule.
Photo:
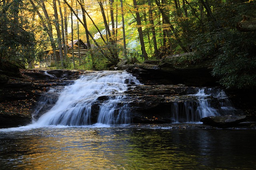
[[[232,127],[237,126],[238,123],[244,122],[246,120],[246,115],[224,115],[204,117],[200,121],[206,125],[212,125],[216,127]]]

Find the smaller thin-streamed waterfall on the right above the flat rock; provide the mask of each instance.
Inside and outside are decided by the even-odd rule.
[[[195,96],[197,100],[172,104],[172,122],[198,122],[203,117],[241,113],[234,108],[224,90],[218,88],[201,88],[189,96]]]

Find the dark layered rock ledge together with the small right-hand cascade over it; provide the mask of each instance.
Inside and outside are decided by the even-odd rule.
[[[219,88],[139,85],[127,93],[134,123],[200,122],[208,116],[243,114]]]

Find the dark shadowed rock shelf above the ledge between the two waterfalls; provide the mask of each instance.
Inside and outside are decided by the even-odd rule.
[[[160,61],[145,61],[142,64],[120,62],[119,70],[128,70],[143,84],[185,84],[187,86],[216,86],[218,80],[211,74],[212,61],[191,64],[176,64],[177,57],[192,53],[167,56]]]

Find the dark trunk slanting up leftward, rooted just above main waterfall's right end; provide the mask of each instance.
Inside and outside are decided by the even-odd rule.
[[[134,4],[134,8],[136,10],[136,22],[137,22],[137,25],[138,25],[138,33],[139,33],[139,37],[140,37],[140,45],[141,45],[142,55],[144,56],[145,60],[148,60],[148,54],[146,53],[146,49],[145,49],[142,27],[141,27],[141,21],[140,21],[140,14],[139,14],[139,11],[138,11],[138,5],[137,5],[136,0],[133,0],[133,4]]]

